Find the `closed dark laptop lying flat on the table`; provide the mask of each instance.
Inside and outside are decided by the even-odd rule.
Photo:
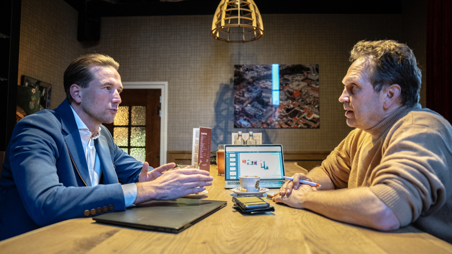
[[[129,207],[126,211],[95,216],[93,220],[119,226],[179,233],[217,212],[226,204],[226,201],[191,198],[154,200]]]

